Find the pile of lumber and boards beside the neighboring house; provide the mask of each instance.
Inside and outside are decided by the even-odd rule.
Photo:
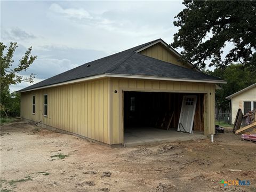
[[[244,132],[252,131],[254,132],[256,130],[256,109],[253,111],[249,111],[246,115],[243,116],[243,124],[245,124],[245,127],[240,128],[242,121],[241,121],[241,109],[238,109],[237,111],[237,118],[235,120],[233,132],[236,134],[241,134]],[[237,129],[239,127],[239,129]]]

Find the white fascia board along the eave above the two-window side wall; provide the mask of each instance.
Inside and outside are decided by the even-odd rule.
[[[79,82],[89,81],[89,80],[103,78],[103,77],[106,77],[106,74],[95,75],[95,76],[85,77],[85,78],[79,78],[79,79],[75,79],[75,80],[71,80],[71,81],[67,81],[67,82],[63,82],[63,83],[57,83],[57,84],[53,84],[53,85],[41,86],[41,87],[37,87],[37,88],[34,88],[34,89],[29,89],[29,90],[24,90],[24,91],[17,91],[17,93],[22,93],[22,92],[27,92],[27,91],[34,91],[34,90],[39,90],[39,89],[47,89],[47,88],[51,88],[51,87],[55,87],[55,86],[79,83]]]

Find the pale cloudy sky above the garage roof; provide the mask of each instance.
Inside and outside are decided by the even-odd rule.
[[[1,1],[1,42],[18,43],[14,66],[32,46],[38,58],[20,75],[36,74],[37,83],[158,38],[172,43],[184,8],[182,1]]]

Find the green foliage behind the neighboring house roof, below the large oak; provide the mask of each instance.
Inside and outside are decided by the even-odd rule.
[[[214,71],[205,71],[207,74],[214,77],[219,77],[227,81],[227,84],[221,84],[221,89],[216,91],[215,100],[216,106],[222,109],[229,108],[229,102],[225,99],[237,91],[244,89],[256,83],[255,70],[243,67],[242,64],[231,64],[226,69],[215,69]]]

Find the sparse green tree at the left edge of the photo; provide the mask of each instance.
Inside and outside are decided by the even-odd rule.
[[[17,43],[10,43],[9,48],[7,49],[6,53],[4,50],[7,48],[2,42],[0,42],[0,63],[1,63],[1,111],[7,116],[7,111],[15,106],[12,101],[17,99],[17,95],[10,93],[9,86],[15,85],[21,82],[33,82],[35,78],[35,74],[30,74],[29,77],[23,77],[19,75],[21,71],[26,71],[29,66],[34,62],[37,56],[31,55],[32,47],[29,47],[28,50],[25,52],[25,55],[20,59],[17,66],[13,66],[13,54],[15,49],[18,47]],[[5,54],[4,54],[5,53]],[[19,97],[18,97],[19,99]]]

